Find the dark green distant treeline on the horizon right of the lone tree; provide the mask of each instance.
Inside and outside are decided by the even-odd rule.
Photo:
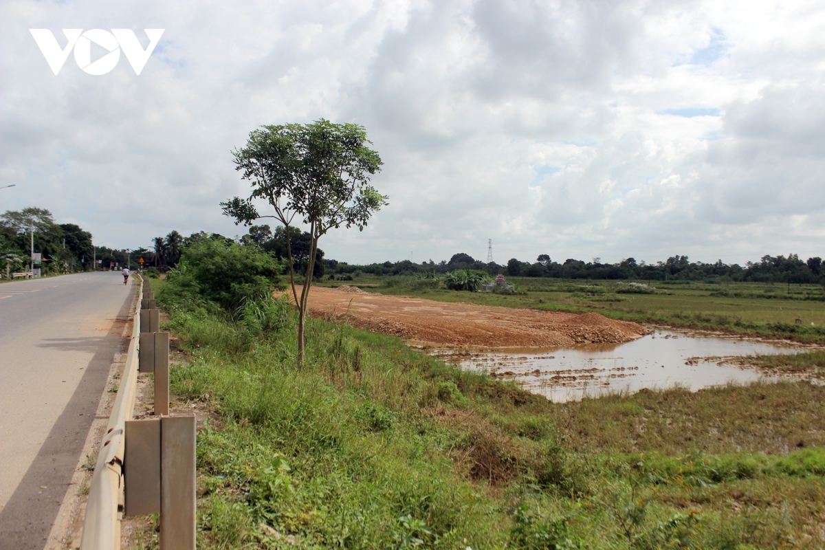
[[[823,262],[819,257],[802,261],[796,254],[789,256],[762,256],[760,261],[748,261],[745,266],[725,264],[719,260],[712,264],[701,261],[691,262],[687,256],[671,256],[666,261],[648,264],[626,258],[615,264],[601,263],[599,258],[581,261],[573,258],[559,263],[546,254],[540,255],[533,263],[512,258],[507,265],[475,260],[469,254],[459,253],[450,261],[424,262],[384,261],[380,264],[358,266],[342,261],[324,260],[327,273],[353,275],[417,275],[433,272],[447,273],[452,270],[483,270],[490,275],[511,275],[521,277],[550,277],[555,279],[612,279],[612,280],[697,280],[712,282],[776,282],[776,283],[819,283],[825,279]]]

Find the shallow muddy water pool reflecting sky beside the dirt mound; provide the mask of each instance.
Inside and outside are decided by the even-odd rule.
[[[680,385],[691,390],[763,377],[756,369],[721,364],[725,357],[795,353],[790,346],[684,333],[655,331],[625,344],[588,344],[573,348],[507,353],[436,350],[435,355],[464,369],[512,379],[553,401],[603,393]]]

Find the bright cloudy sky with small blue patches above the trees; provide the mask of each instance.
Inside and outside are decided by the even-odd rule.
[[[139,75],[55,75],[30,29],[164,31]],[[233,149],[319,118],[389,195],[328,258],[825,256],[825,2],[0,2],[0,211],[237,236]]]

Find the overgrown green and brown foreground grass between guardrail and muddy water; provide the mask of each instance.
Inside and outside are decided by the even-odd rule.
[[[212,412],[199,548],[823,548],[822,386],[552,403],[318,319],[299,369],[293,315],[250,331],[153,284],[172,393]]]

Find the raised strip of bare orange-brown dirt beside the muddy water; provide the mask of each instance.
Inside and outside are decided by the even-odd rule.
[[[309,310],[318,317],[341,319],[347,315],[347,322],[356,327],[439,346],[570,346],[625,342],[646,332],[634,322],[614,321],[598,313],[576,315],[435,302],[370,294],[347,285],[339,289],[313,288]]]

